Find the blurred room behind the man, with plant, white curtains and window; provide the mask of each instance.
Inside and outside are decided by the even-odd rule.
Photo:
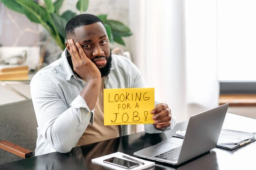
[[[31,98],[29,80],[65,48],[67,20],[90,13],[177,122],[224,103],[256,118],[255,0],[44,2],[0,0],[0,105]]]

